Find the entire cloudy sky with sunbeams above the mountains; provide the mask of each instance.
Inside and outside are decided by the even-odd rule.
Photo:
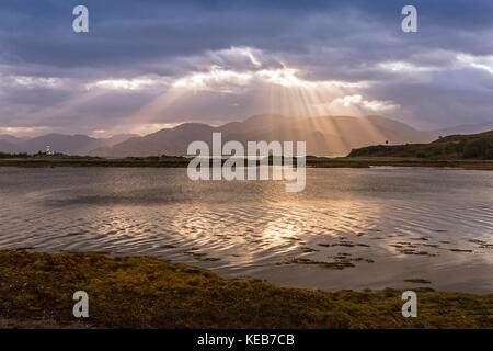
[[[74,33],[76,5],[89,33]],[[404,5],[417,32],[404,33]],[[107,137],[254,114],[493,121],[493,1],[2,0],[0,134]]]

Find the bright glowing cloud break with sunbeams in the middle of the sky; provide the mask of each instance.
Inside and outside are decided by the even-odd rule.
[[[284,64],[280,68],[266,68],[260,58],[262,55],[255,54],[248,48],[215,53],[216,59],[225,65],[238,57],[243,57],[244,63],[246,57],[250,65],[244,66],[244,69],[234,70],[228,65],[211,65],[207,70],[192,71],[176,78],[141,76],[133,79],[106,79],[89,83],[85,88],[95,94],[144,89],[160,92],[122,121],[112,133],[131,131],[136,134],[149,134],[173,127],[163,116],[200,92],[241,97],[248,90],[254,91],[254,101],[249,103],[257,111],[291,116],[357,116],[398,107],[392,101],[365,100],[362,89],[371,86],[370,81],[311,80],[305,78],[301,70]]]

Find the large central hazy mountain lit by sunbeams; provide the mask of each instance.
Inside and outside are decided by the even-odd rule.
[[[427,143],[433,136],[409,125],[380,116],[321,116],[285,117],[255,115],[243,122],[231,122],[218,127],[200,123],[185,123],[174,128],[128,139],[113,147],[101,147],[91,156],[126,157],[152,155],[186,155],[188,144],[203,140],[211,145],[211,134],[221,132],[222,143],[246,141],[307,141],[307,154],[343,156],[352,148],[388,140],[390,144]]]

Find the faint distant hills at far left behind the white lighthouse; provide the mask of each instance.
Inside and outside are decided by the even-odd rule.
[[[87,135],[47,134],[35,138],[21,139],[14,136],[0,135],[0,152],[36,154],[45,151],[49,145],[51,150],[66,155],[88,155],[89,151],[103,146],[113,146],[135,137],[135,134],[121,134],[111,138],[92,138]]]

